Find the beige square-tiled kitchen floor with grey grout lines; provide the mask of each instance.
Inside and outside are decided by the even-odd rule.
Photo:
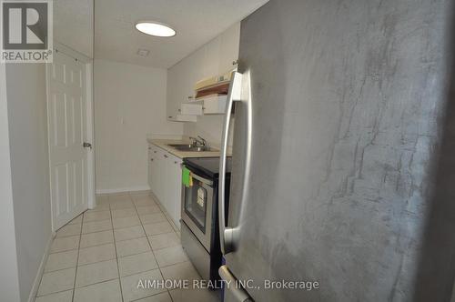
[[[137,288],[139,280],[199,279],[175,227],[147,192],[96,196],[59,229],[36,302],[216,302],[206,289]]]

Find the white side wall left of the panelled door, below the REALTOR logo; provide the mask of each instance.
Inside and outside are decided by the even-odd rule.
[[[6,66],[15,240],[25,301],[52,237],[44,64]]]

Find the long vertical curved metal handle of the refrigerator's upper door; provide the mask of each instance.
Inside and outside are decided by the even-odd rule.
[[[233,228],[226,226],[225,221],[225,192],[226,192],[226,157],[227,157],[227,139],[229,137],[229,126],[231,121],[232,105],[234,101],[239,101],[242,90],[242,74],[237,71],[232,72],[229,91],[227,93],[226,115],[224,118],[223,134],[221,138],[221,156],[219,160],[219,178],[218,178],[218,221],[219,221],[219,239],[221,252],[227,254],[232,251],[233,247]]]

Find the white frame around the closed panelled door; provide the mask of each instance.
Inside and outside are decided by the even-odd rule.
[[[95,197],[95,130],[94,130],[94,104],[93,104],[93,59],[83,55],[76,50],[54,41],[54,52],[61,52],[65,55],[76,58],[79,62],[84,63],[86,66],[86,137],[88,142],[92,144],[92,149],[87,153],[87,203],[88,208],[94,208],[96,206]],[[47,94],[47,129],[50,129],[49,125],[49,91],[50,91],[50,76],[51,76],[52,64],[46,64],[45,66],[45,82],[46,82],[46,94]],[[47,147],[50,149],[50,136],[47,136]],[[49,155],[50,156],[50,155]],[[51,171],[51,162],[49,157],[49,171]],[[49,176],[49,186],[52,190],[52,177]],[[52,194],[51,194],[51,221],[52,231],[56,232],[56,225],[54,221],[54,209],[52,206]]]

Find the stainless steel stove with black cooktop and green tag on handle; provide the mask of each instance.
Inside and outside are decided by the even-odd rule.
[[[182,185],[182,247],[200,276],[214,281],[219,279],[222,258],[217,220],[219,157],[185,158],[183,165],[190,170],[192,186]],[[229,182],[230,174],[227,186]]]

